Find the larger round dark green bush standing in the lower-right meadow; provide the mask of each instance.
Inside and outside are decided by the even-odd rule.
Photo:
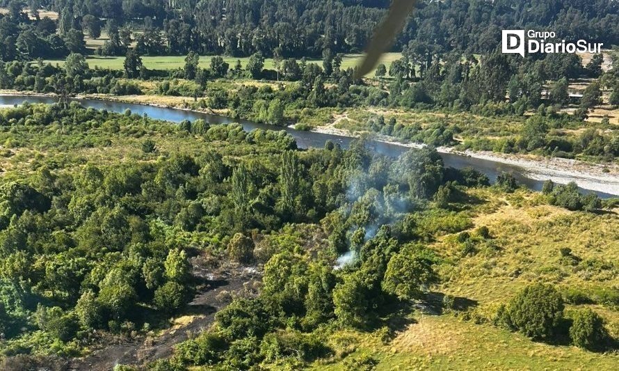
[[[563,298],[552,285],[525,287],[508,306],[508,322],[533,339],[550,339],[563,319]]]

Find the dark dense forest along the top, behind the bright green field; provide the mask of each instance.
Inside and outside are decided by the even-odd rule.
[[[99,52],[123,54],[134,40],[141,54],[321,56],[360,52],[389,1],[223,0],[19,0],[6,1],[1,19],[1,55],[58,58],[83,50],[83,35],[108,42]],[[28,6],[35,20],[21,13]],[[37,16],[40,6],[58,21]],[[417,1],[417,9],[394,49],[419,54],[457,50],[485,53],[500,42],[501,29],[555,31],[560,38],[619,44],[614,1],[501,0]],[[56,34],[56,29],[58,33]]]

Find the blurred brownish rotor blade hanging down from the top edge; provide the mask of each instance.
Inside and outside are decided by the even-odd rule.
[[[364,60],[357,68],[355,77],[364,77],[366,74],[372,72],[372,70],[378,64],[380,56],[392,47],[396,35],[402,31],[406,18],[415,8],[415,0],[394,0],[389,8],[389,15],[380,24],[378,30],[374,34],[374,37],[369,43],[367,48],[367,54]]]

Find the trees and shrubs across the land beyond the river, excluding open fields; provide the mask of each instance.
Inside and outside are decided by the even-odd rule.
[[[590,40],[595,38],[611,45],[615,42],[612,30],[616,28],[613,2],[421,2],[394,47],[401,50],[401,58],[393,61],[388,69],[385,65],[378,66],[378,84],[353,79],[353,70],[341,67],[342,52],[358,51],[367,42],[373,27],[385,13],[385,2],[293,3],[294,6],[285,7],[277,6],[277,2],[261,1],[231,4],[181,1],[166,3],[163,7],[156,6],[159,3],[135,1],[29,4],[58,11],[58,20],[51,21],[36,17],[30,20],[21,11],[23,4],[11,1],[8,13],[0,20],[4,22],[0,30],[10,33],[0,35],[5,40],[0,88],[60,95],[154,93],[193,97],[194,109],[225,110],[229,116],[275,125],[300,122],[300,128],[316,126],[316,123],[304,123],[315,115],[312,109],[326,112],[328,108],[384,106],[470,112],[490,118],[501,116],[517,125],[480,129],[449,120],[431,125],[398,125],[393,119],[376,116],[358,123],[357,129],[403,141],[458,145],[461,150],[532,152],[595,162],[612,162],[619,153],[614,127],[607,118],[594,125],[584,122],[602,103],[619,105],[618,70],[604,70],[602,54],[593,56],[583,65],[581,57],[574,54],[520,58],[500,54],[497,49],[500,29],[507,24],[512,28],[514,25],[535,28],[549,24],[549,29],[562,38],[570,40],[586,35]],[[195,6],[195,10],[191,6]],[[225,14],[217,13],[224,10]],[[340,14],[340,10],[350,14]],[[366,12],[369,14],[364,14]],[[129,14],[134,17],[127,17]],[[600,18],[601,15],[604,17]],[[460,23],[454,23],[455,19]],[[337,22],[347,26],[335,24]],[[354,26],[348,26],[349,22],[363,22],[359,27],[365,31],[355,30]],[[302,31],[290,29],[291,24]],[[593,29],[592,25],[604,31]],[[200,31],[200,27],[206,26],[212,29]],[[566,26],[574,29],[565,29]],[[264,34],[245,35],[236,27]],[[472,37],[477,27],[479,36]],[[97,53],[125,56],[124,73],[88,68],[88,60],[83,57],[87,54],[83,33],[86,31],[91,38],[98,37],[102,29],[106,30],[108,39]],[[364,35],[362,40],[353,42],[357,46],[350,44],[351,37],[339,34],[350,31]],[[201,35],[208,35],[212,40],[204,44]],[[235,39],[227,40],[230,35]],[[283,39],[293,35],[299,39]],[[193,44],[181,47],[175,38]],[[186,54],[184,68],[145,68],[141,56],[161,53]],[[240,61],[230,65],[215,56],[210,68],[200,68],[200,54],[250,58],[242,67]],[[64,68],[41,61],[29,62],[34,58],[65,56]],[[264,68],[266,56],[274,57],[273,70]],[[307,63],[307,56],[319,56],[322,63]],[[591,81],[581,92],[583,97],[570,115],[563,110],[571,102],[570,84],[584,78],[597,81]],[[238,89],[216,84],[218,79],[268,79],[285,84]],[[142,81],[151,83],[149,92],[145,92],[146,83]],[[198,98],[203,99],[198,101]],[[524,120],[532,111],[539,117]],[[586,131],[575,131],[582,127],[586,127]]]

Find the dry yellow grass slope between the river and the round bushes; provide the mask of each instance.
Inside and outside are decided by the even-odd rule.
[[[487,191],[479,191],[492,199]],[[504,302],[532,282],[554,283],[560,288],[619,287],[619,217],[614,212],[569,212],[540,204],[539,194],[501,200],[494,212],[477,210],[476,228],[487,226],[492,248],[478,246],[474,255],[462,255],[456,235],[448,235],[433,248],[448,259],[441,267],[442,290],[480,303]],[[501,205],[502,203],[502,205]],[[472,231],[471,231],[472,232]],[[580,263],[561,259],[570,248]]]

